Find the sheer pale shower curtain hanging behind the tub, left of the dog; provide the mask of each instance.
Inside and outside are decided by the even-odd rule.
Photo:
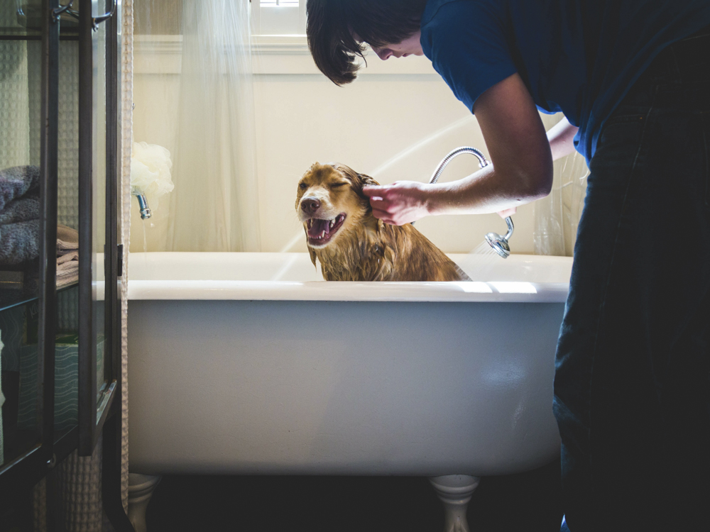
[[[178,109],[170,117],[141,115],[141,123],[163,120],[172,130],[163,137],[174,139],[165,148],[175,189],[143,224],[146,250],[260,250],[249,2],[148,0],[138,9],[143,43],[181,34],[173,35]],[[137,97],[135,113],[155,111]],[[134,140],[160,144],[148,136],[136,131]]]

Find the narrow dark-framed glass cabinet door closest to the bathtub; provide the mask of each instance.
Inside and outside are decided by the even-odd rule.
[[[79,452],[92,453],[116,390],[111,365],[111,317],[107,307],[107,260],[115,243],[107,240],[107,214],[115,212],[107,191],[115,181],[118,41],[113,21],[116,0],[80,0],[80,440]],[[109,186],[107,186],[107,182]],[[115,279],[114,279],[115,284]],[[107,327],[108,324],[108,327]]]

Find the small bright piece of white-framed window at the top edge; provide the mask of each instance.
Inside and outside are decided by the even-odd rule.
[[[305,0],[252,0],[254,35],[305,35]]]

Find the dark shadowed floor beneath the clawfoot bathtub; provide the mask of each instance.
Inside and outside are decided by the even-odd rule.
[[[559,532],[559,463],[481,480],[471,532]],[[442,532],[428,480],[408,477],[166,475],[148,506],[148,532]]]

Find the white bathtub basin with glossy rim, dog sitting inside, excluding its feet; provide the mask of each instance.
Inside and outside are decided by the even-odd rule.
[[[132,253],[131,472],[501,475],[559,451],[572,260],[324,282],[300,253]]]

